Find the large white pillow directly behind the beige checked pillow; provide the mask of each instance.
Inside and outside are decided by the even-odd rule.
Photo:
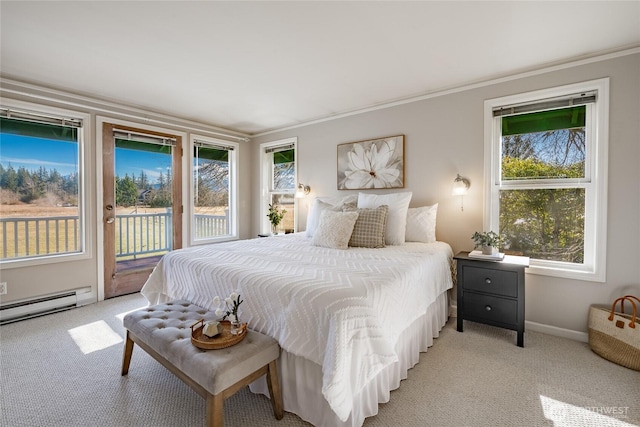
[[[377,208],[389,206],[387,216],[387,230],[385,231],[385,243],[387,245],[402,245],[407,228],[407,210],[411,202],[411,191],[393,194],[358,194],[358,208]]]

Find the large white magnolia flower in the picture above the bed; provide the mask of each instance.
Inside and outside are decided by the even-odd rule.
[[[347,159],[345,188],[388,188],[397,185],[400,168],[394,139],[375,141],[369,148],[363,144],[353,144]]]

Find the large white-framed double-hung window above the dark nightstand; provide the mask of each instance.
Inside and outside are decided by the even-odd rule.
[[[485,102],[485,227],[529,272],[604,281],[608,80]]]

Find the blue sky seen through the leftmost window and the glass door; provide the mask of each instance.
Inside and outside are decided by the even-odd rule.
[[[43,166],[47,170],[56,169],[67,176],[77,172],[78,145],[72,142],[33,138],[3,133],[0,136],[0,164],[16,171],[24,167],[28,171]],[[171,157],[166,154],[116,149],[116,175],[125,174],[136,178],[144,170],[151,183],[155,183],[160,172],[164,176],[171,168]]]

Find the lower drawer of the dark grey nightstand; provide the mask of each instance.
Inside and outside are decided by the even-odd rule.
[[[469,320],[498,322],[516,325],[518,322],[517,300],[481,295],[473,292],[464,294],[464,318]]]

